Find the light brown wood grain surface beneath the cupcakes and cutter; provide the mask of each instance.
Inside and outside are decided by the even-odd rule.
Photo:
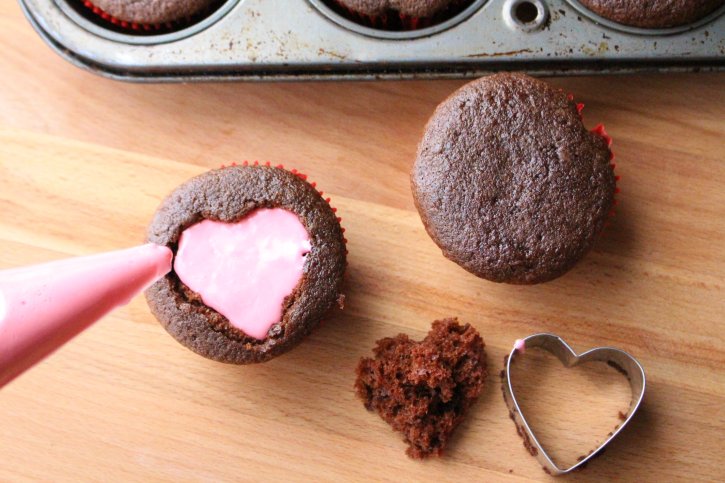
[[[177,344],[142,297],[0,391],[0,481],[553,481],[509,420],[517,338],[613,346],[644,366],[641,411],[562,481],[723,481],[725,75],[552,79],[615,139],[617,216],[566,276],[514,287],[447,261],[413,208],[423,126],[462,82],[133,85],[59,58],[0,0],[0,269],[139,244],[160,199],[221,164],[270,160],[332,197],[349,239],[344,311],[256,366]],[[445,458],[414,461],[353,393],[375,340],[457,316],[491,376]],[[618,424],[627,386],[532,358],[517,384],[561,461]],[[584,451],[584,453],[582,453]]]

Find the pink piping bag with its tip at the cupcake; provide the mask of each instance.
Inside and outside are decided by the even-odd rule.
[[[0,387],[171,271],[166,247],[0,271]]]

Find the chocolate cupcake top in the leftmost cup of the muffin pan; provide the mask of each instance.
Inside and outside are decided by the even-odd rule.
[[[92,3],[118,20],[156,25],[196,15],[214,0],[92,0]]]

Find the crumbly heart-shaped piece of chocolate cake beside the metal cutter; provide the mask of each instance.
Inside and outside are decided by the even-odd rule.
[[[488,375],[483,339],[469,324],[433,322],[421,342],[399,334],[377,342],[356,369],[355,391],[369,411],[405,435],[413,458],[442,456]]]

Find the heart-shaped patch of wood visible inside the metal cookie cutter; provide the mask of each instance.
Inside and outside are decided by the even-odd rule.
[[[629,381],[606,362],[566,368],[553,354],[533,348],[516,354],[510,377],[521,414],[560,468],[599,448],[630,410]]]

